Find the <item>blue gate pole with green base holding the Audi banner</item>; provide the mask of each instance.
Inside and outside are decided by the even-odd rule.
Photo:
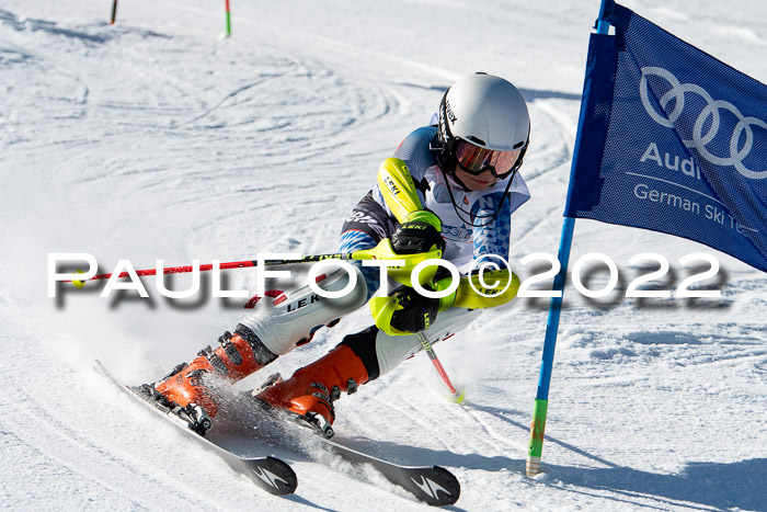
[[[605,21],[606,9],[615,4],[614,0],[602,0],[599,18],[597,20],[596,33],[607,34],[610,24]],[[577,150],[577,145],[575,145]],[[573,158],[573,161],[575,159]],[[527,476],[535,476],[540,473],[540,457],[543,452],[543,436],[546,432],[546,416],[549,408],[549,386],[551,384],[551,371],[554,365],[554,348],[557,346],[557,333],[559,332],[559,318],[562,312],[562,298],[564,297],[564,283],[568,276],[568,263],[570,262],[570,249],[573,243],[573,231],[575,229],[575,218],[564,217],[562,223],[562,235],[559,241],[560,270],[553,282],[553,291],[559,292],[559,296],[552,297],[549,305],[549,319],[546,323],[546,338],[543,340],[543,354],[540,364],[540,377],[538,379],[538,392],[533,409],[533,423],[530,424],[530,443],[527,452],[527,465],[525,473]]]

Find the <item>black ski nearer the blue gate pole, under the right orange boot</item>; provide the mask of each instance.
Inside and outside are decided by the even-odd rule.
[[[401,466],[332,440],[318,437],[332,454],[357,465],[370,465],[390,482],[410,491],[416,499],[434,507],[451,505],[460,497],[460,482],[439,466]]]

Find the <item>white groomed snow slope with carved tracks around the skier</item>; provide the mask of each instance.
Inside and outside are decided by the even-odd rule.
[[[47,255],[152,268],[331,252],[378,163],[456,78],[484,70],[529,102],[514,217],[518,259],[556,253],[586,44],[598,1],[4,0],[0,5],[0,505],[18,510],[425,510],[296,458],[298,493],[267,496],[95,373],[157,378],[214,343],[241,300],[100,286],[47,297]],[[627,1],[767,81],[767,3]],[[621,286],[651,248],[674,270],[713,251],[579,220],[572,261],[613,258]],[[462,482],[454,510],[767,510],[767,275],[721,253],[719,299],[565,293],[546,473],[524,475],[548,301],[517,299],[438,344],[467,403],[419,355],[337,402],[340,436]],[[535,265],[531,265],[535,266]],[[541,266],[540,270],[545,270]],[[226,273],[254,289],[255,271]],[[592,272],[592,285],[606,281]],[[188,281],[178,276],[174,286]],[[206,281],[207,283],[207,281]],[[368,323],[360,310],[270,369],[289,375]],[[240,386],[257,385],[256,374]],[[375,483],[375,478],[374,478]]]

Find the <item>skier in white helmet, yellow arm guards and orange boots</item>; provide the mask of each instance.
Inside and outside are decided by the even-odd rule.
[[[412,132],[381,164],[377,185],[343,225],[339,252],[376,248],[388,238],[394,259],[442,255],[462,273],[485,254],[507,258],[511,215],[530,196],[517,173],[529,132],[525,100],[512,83],[486,73],[461,78],[444,94],[432,123]],[[204,434],[218,408],[211,377],[231,383],[244,378],[370,300],[380,285],[380,270],[358,263],[356,285],[345,296],[317,300],[304,286],[273,297],[273,304],[259,304],[242,319],[233,334],[226,332],[221,346],[204,349],[190,364],[139,390]],[[339,291],[350,278],[337,269],[318,285]],[[443,289],[442,283],[435,275],[424,287]],[[355,392],[421,350],[416,333],[435,343],[481,314],[450,307],[455,295],[428,298],[400,285],[374,298],[376,325],[346,335],[327,355],[273,383],[257,398],[329,430],[341,392]]]

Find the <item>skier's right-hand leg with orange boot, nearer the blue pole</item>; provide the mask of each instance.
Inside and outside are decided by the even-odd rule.
[[[448,309],[424,333],[436,343],[467,327],[481,314],[478,309]],[[378,378],[422,350],[415,334],[389,335],[369,327],[350,334],[318,361],[263,390],[257,398],[287,409],[324,429],[335,420],[333,401],[342,391],[350,395],[359,385]]]

